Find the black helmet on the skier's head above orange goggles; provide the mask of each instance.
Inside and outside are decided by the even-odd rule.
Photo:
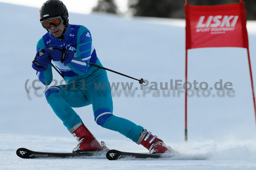
[[[60,0],[47,0],[40,8],[40,21],[61,16],[65,26],[68,25],[67,8]]]

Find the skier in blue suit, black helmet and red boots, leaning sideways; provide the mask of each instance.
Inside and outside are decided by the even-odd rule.
[[[104,69],[92,44],[90,31],[79,25],[71,25],[66,6],[60,0],[47,0],[40,9],[40,22],[47,33],[37,43],[37,53],[32,68],[44,84],[52,82],[52,66],[61,72],[67,85],[51,86],[45,96],[55,114],[79,141],[73,153],[101,151],[106,147],[85,127],[72,107],[93,106],[98,125],[117,131],[137,144],[143,145],[149,153],[164,153],[172,149],[162,140],[141,126],[113,115],[111,89],[95,88],[95,84],[108,83]]]

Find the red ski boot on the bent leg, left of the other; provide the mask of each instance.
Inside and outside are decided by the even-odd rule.
[[[73,153],[82,153],[87,151],[101,151],[103,147],[92,133],[80,122],[70,130],[74,137],[77,137],[77,147],[73,149]]]

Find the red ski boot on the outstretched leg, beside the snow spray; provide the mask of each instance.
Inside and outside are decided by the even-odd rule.
[[[149,153],[161,154],[165,152],[172,152],[171,147],[168,147],[161,139],[157,138],[156,135],[151,135],[151,132],[148,132],[145,129],[141,133],[140,138],[136,143],[147,148]]]

